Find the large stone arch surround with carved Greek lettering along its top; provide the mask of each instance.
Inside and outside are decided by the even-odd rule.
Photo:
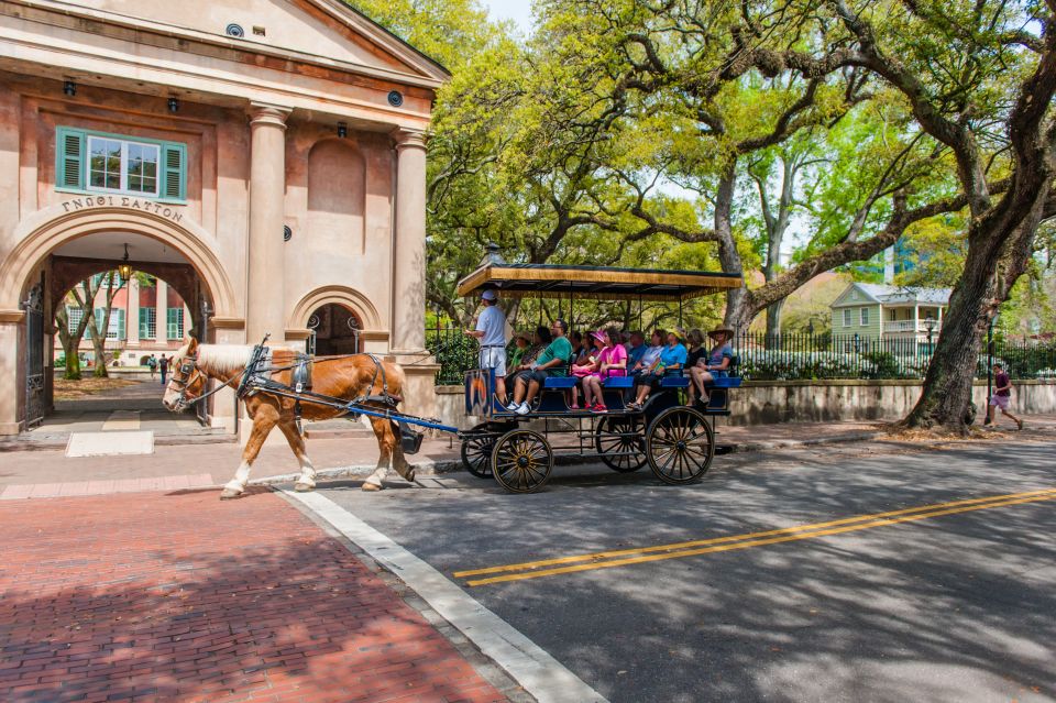
[[[204,297],[211,300],[212,325],[226,330],[244,328],[234,287],[209,244],[211,235],[189,220],[183,208],[138,198],[92,196],[41,210],[19,223],[12,237],[16,243],[0,262],[0,343],[19,350],[0,359],[0,433],[16,433],[25,421],[25,367],[32,365],[28,364],[32,361],[29,351],[40,347],[30,344],[26,329],[24,304],[31,288],[41,283],[53,252],[106,232],[145,237],[178,252],[197,274]],[[50,318],[48,309],[45,319]]]

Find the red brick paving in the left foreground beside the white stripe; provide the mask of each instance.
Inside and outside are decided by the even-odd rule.
[[[0,503],[0,701],[502,701],[275,494]]]

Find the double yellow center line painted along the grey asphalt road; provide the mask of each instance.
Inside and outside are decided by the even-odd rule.
[[[815,537],[854,532],[862,529],[871,529],[873,527],[886,527],[888,525],[898,525],[900,523],[912,523],[933,517],[942,517],[943,515],[955,515],[957,513],[986,510],[989,508],[1052,499],[1056,499],[1056,488],[1042,488],[1038,491],[1027,491],[1025,493],[1009,493],[1005,495],[991,495],[982,498],[971,498],[968,501],[954,501],[952,503],[922,505],[919,507],[903,508],[901,510],[845,517],[838,520],[829,520],[827,523],[814,523],[812,525],[800,525],[796,527],[771,529],[761,532],[749,532],[747,535],[732,535],[729,537],[696,539],[693,541],[675,542],[672,545],[658,545],[654,547],[640,547],[636,549],[617,549],[586,554],[574,554],[570,557],[559,557],[556,559],[542,559],[539,561],[526,561],[522,563],[507,564],[504,567],[488,567],[486,569],[455,571],[453,575],[457,579],[485,576],[483,579],[471,579],[470,581],[466,581],[465,585],[468,586],[503,583],[505,581],[525,581],[528,579],[556,576],[562,573],[593,571],[595,569],[614,569],[616,567],[628,567],[630,564],[640,564],[650,561],[683,559],[685,557],[710,554],[717,551],[733,551],[735,549],[748,549],[750,547],[762,547],[765,545],[778,545],[781,542],[791,542],[801,539],[813,539]]]

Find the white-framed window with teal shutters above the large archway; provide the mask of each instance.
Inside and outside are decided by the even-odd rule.
[[[68,127],[56,130],[56,187],[185,200],[187,145]]]

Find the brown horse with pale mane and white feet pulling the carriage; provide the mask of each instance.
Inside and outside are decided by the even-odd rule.
[[[289,369],[297,352],[292,349],[272,347],[270,366],[274,367],[271,378],[279,384],[292,385]],[[173,375],[165,388],[162,403],[169,410],[182,411],[206,392],[208,380],[215,378],[224,384],[238,386],[253,354],[253,347],[239,344],[199,344],[191,339],[173,358]],[[404,371],[398,364],[375,362],[369,355],[318,356],[312,360],[312,392],[332,398],[351,400],[367,395],[381,395],[387,384],[388,394],[399,399],[403,394]],[[305,440],[297,428],[293,398],[257,391],[246,395],[245,410],[253,418],[253,432],[242,450],[242,463],[234,477],[223,486],[221,498],[237,498],[245,491],[250,480],[250,469],[264,446],[264,440],[276,425],[286,436],[289,448],[300,462],[300,476],[295,490],[311,491],[316,487],[316,469],[305,451]],[[369,403],[382,407],[380,403]],[[301,400],[301,417],[306,420],[324,420],[340,417],[343,413],[337,408]],[[377,436],[380,457],[374,473],[363,483],[364,491],[380,491],[382,479],[388,472],[391,463],[407,481],[415,480],[415,470],[404,458],[399,438],[393,429],[393,422],[382,418],[369,418]]]

